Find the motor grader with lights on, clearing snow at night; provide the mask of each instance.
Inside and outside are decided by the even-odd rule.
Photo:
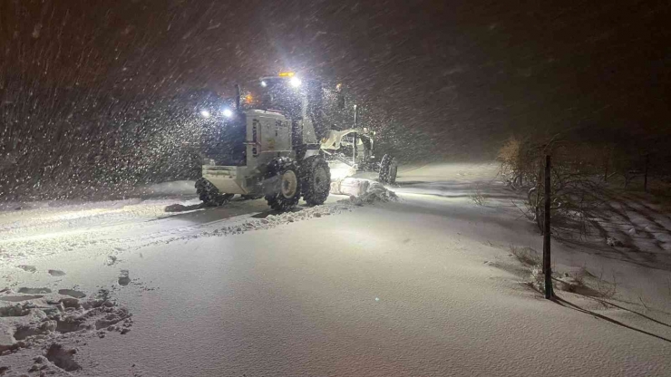
[[[276,210],[293,208],[300,198],[319,205],[328,198],[330,167],[343,164],[351,172],[379,170],[381,181],[393,183],[395,159],[375,162],[374,134],[358,127],[356,115],[352,128],[333,130],[325,107],[334,104],[325,103],[325,92],[321,82],[280,73],[248,88],[236,85],[231,102],[195,109],[209,121],[201,138],[199,198],[219,206],[236,194],[263,197]],[[344,109],[340,87],[333,94],[326,97]]]

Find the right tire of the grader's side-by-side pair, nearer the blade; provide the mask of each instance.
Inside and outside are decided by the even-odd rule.
[[[301,191],[310,206],[324,204],[331,190],[331,169],[320,156],[311,156],[301,165]]]

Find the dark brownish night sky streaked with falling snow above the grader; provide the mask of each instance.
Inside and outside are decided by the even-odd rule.
[[[0,84],[4,101],[37,86],[158,98],[227,92],[292,69],[345,82],[385,122],[440,141],[426,147],[440,153],[491,152],[513,133],[657,135],[671,120],[670,8],[633,0],[0,0]]]

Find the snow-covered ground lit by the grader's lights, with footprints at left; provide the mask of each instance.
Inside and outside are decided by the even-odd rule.
[[[0,375],[669,375],[662,208],[626,201],[628,222],[554,241],[584,285],[555,303],[513,256],[542,242],[495,165],[399,174],[398,201],[284,214],[199,208],[188,184],[7,207]]]

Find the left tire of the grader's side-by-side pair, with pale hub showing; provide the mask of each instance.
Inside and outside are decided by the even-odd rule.
[[[287,158],[270,161],[264,186],[270,208],[286,211],[296,207],[300,199],[300,173],[296,161]]]

